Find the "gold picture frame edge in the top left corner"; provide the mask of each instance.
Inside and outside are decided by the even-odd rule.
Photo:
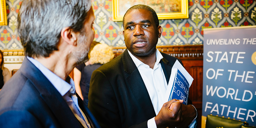
[[[0,26],[7,25],[6,1],[0,0]]]

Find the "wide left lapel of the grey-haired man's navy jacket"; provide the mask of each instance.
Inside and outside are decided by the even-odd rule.
[[[72,113],[58,90],[26,57],[23,60],[20,70],[39,91],[40,96],[50,107],[62,127],[81,127],[80,122]]]

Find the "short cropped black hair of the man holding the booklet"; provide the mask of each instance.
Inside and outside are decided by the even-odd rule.
[[[155,12],[154,9],[152,9],[152,8],[149,7],[149,6],[143,5],[143,4],[137,4],[137,5],[135,5],[135,6],[130,7],[130,8],[126,11],[126,13],[129,13],[130,11],[135,10],[135,9],[144,9],[144,10],[150,11],[150,12],[152,13],[153,18],[154,18],[154,21],[155,21],[156,26],[159,26],[159,20],[158,20],[158,17],[157,17],[157,15],[156,15],[156,12]],[[124,19],[125,19],[126,13],[124,14],[124,18],[123,18],[123,27],[124,27]]]

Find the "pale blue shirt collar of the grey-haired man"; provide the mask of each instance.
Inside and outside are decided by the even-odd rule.
[[[67,77],[66,82],[60,77],[58,77],[56,74],[51,72],[49,69],[47,69],[45,66],[43,66],[40,62],[35,60],[34,58],[28,57],[28,60],[32,62],[42,73],[45,75],[45,77],[53,84],[53,86],[59,91],[61,96],[64,96],[69,90],[71,92],[75,92],[75,84],[74,81]]]

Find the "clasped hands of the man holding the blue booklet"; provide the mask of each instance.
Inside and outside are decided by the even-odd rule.
[[[183,100],[172,99],[166,102],[155,117],[157,128],[187,127],[197,112],[192,105],[184,105]]]

